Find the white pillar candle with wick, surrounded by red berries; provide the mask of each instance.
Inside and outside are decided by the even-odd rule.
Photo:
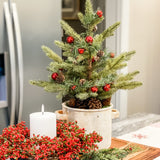
[[[56,137],[56,114],[52,112],[44,112],[44,105],[42,105],[42,112],[35,112],[30,114],[30,137],[33,134],[40,136]]]

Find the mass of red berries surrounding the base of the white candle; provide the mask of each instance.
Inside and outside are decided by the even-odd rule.
[[[24,122],[9,126],[0,135],[0,159],[47,160],[58,157],[59,160],[79,159],[79,153],[88,153],[97,148],[95,143],[102,137],[96,132],[86,134],[76,122],[57,121],[57,137],[29,137],[29,129]]]

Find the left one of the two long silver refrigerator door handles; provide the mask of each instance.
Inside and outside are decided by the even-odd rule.
[[[8,46],[10,54],[10,66],[11,66],[11,113],[10,113],[10,125],[15,123],[15,108],[16,108],[16,62],[15,62],[15,48],[14,48],[14,37],[12,18],[9,11],[9,5],[4,2],[4,14],[5,22],[8,35]]]

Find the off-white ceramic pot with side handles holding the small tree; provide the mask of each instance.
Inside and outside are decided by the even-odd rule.
[[[109,148],[111,145],[112,119],[119,117],[119,112],[112,109],[113,105],[102,109],[78,109],[66,106],[62,103],[62,110],[56,111],[57,119],[70,122],[77,121],[81,128],[86,129],[86,133],[96,131],[103,137],[98,143],[99,149]]]

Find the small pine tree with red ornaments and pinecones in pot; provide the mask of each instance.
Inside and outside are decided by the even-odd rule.
[[[78,13],[79,20],[86,29],[78,34],[65,21],[61,26],[68,35],[66,42],[55,41],[63,50],[63,60],[50,48],[42,46],[46,55],[53,60],[48,66],[49,81],[30,81],[31,84],[43,87],[47,92],[58,92],[57,98],[68,95],[68,105],[79,108],[102,108],[110,104],[111,96],[119,89],[134,89],[142,83],[133,81],[139,72],[126,75],[117,70],[127,66],[127,61],[135,51],[114,53],[102,49],[103,41],[114,35],[120,25],[111,25],[101,34],[96,34],[97,24],[104,19],[101,10],[93,11],[92,3],[86,0],[85,14]]]

